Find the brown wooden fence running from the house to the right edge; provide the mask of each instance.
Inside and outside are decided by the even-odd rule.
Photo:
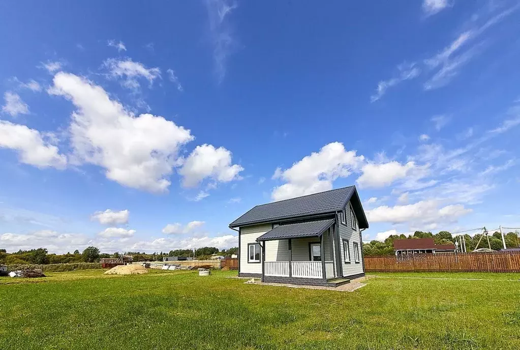
[[[518,253],[367,256],[367,272],[520,272]]]

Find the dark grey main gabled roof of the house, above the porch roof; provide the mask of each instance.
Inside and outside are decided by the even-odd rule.
[[[348,186],[337,188],[335,190],[314,193],[313,195],[257,205],[249,212],[229,224],[229,227],[268,223],[276,221],[277,219],[333,213],[342,210],[346,202],[354,193],[356,193],[356,187]],[[359,202],[359,208],[360,206],[361,203]],[[366,223],[365,213],[363,213],[362,208],[360,213],[356,211],[356,215],[358,220],[364,220],[364,223]],[[366,227],[368,227],[368,223],[366,224]]]

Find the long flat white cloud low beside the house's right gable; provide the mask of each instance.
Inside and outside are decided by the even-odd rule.
[[[367,211],[369,223],[412,223],[422,224],[443,224],[456,222],[459,217],[470,213],[471,209],[464,208],[462,204],[447,205],[439,208],[437,200],[419,201],[407,205],[387,206],[382,205],[378,208]]]

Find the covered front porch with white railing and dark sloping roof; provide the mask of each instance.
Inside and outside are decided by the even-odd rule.
[[[335,279],[334,219],[281,225],[256,239],[262,245],[262,279],[328,285]]]

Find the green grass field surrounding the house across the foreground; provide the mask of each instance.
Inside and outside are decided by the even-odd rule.
[[[520,275],[381,274],[355,292],[233,271],[48,275],[0,278],[0,349],[520,348]]]

